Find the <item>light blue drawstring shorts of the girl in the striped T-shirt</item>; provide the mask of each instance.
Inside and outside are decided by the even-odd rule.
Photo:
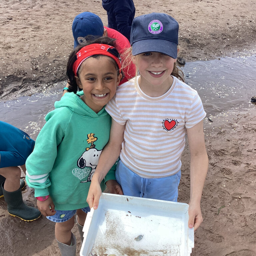
[[[177,202],[181,172],[165,178],[142,178],[119,160],[116,180],[124,195]]]

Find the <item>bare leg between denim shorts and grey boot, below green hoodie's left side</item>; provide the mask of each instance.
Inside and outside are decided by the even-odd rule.
[[[74,227],[75,217],[65,222],[56,222],[55,224],[55,237],[57,241],[70,245],[71,244],[71,229]]]

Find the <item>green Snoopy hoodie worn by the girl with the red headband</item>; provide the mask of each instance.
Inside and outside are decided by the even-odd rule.
[[[91,177],[110,134],[105,107],[97,114],[74,93],[56,101],[26,161],[26,181],[35,197],[50,195],[56,210],[87,207]],[[101,182],[115,180],[114,165]]]

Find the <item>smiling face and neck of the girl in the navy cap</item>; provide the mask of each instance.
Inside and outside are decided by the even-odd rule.
[[[177,59],[160,52],[145,52],[136,55],[134,60],[140,71],[139,85],[144,93],[152,96],[152,89],[157,90],[157,96],[160,96],[170,89],[173,83],[170,75]],[[155,95],[153,91],[152,94]]]

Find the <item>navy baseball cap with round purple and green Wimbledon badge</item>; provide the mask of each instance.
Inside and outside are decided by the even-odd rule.
[[[150,13],[136,17],[132,22],[132,55],[143,52],[161,52],[177,58],[178,22],[165,13]]]

